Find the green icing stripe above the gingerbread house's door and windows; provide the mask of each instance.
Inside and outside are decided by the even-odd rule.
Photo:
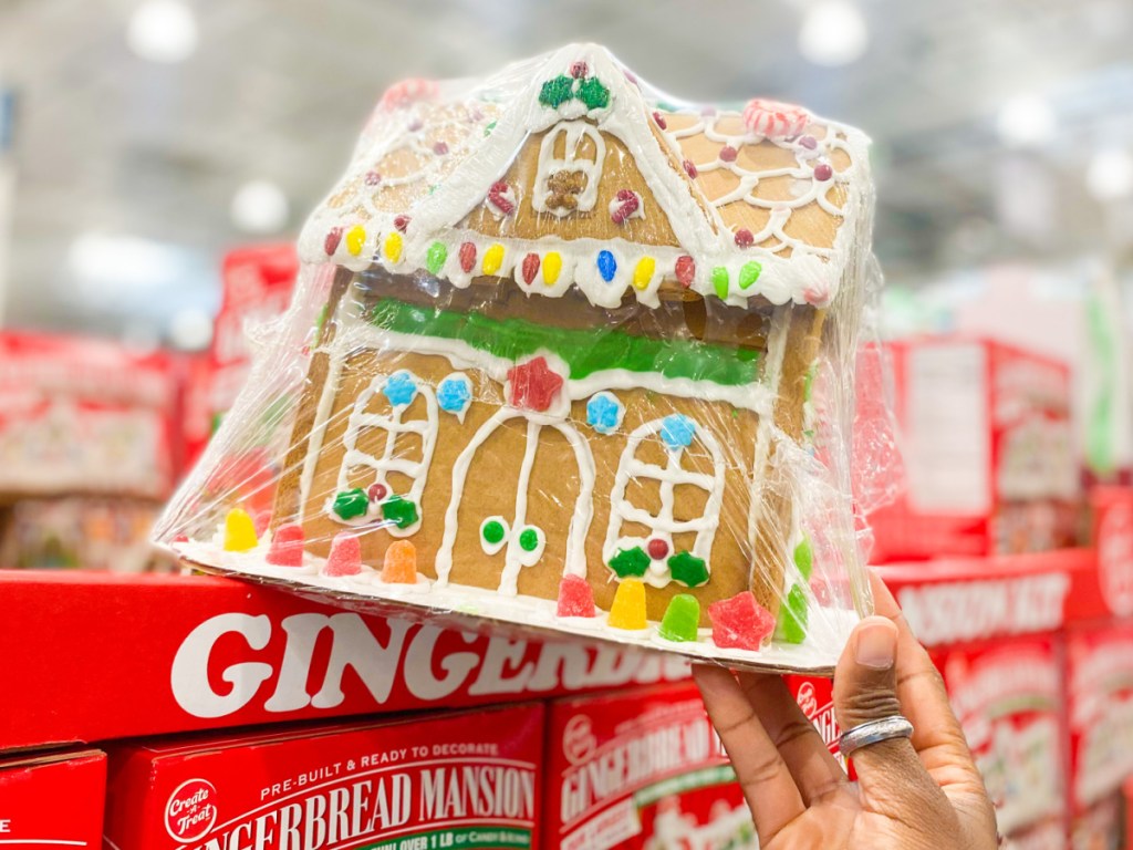
[[[519,360],[546,349],[566,362],[574,380],[612,368],[655,372],[725,386],[759,380],[758,351],[636,337],[610,328],[548,328],[522,318],[486,318],[478,313],[417,307],[393,298],[374,305],[370,322],[397,333],[460,340],[506,360]]]

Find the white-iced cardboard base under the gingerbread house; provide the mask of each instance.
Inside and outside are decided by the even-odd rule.
[[[658,636],[656,624],[640,631],[611,628],[605,613],[596,618],[557,618],[555,602],[534,597],[500,596],[479,588],[448,588],[438,594],[428,579],[417,585],[377,583],[377,572],[358,576],[327,577],[314,566],[300,568],[272,567],[256,552],[223,552],[232,566],[218,566],[215,547],[201,543],[173,544],[170,552],[190,569],[254,581],[282,588],[304,598],[334,604],[360,614],[403,618],[441,628],[476,631],[508,638],[577,639],[612,644],[617,648],[636,648],[680,656],[690,662],[718,664],[732,670],[757,673],[801,673],[829,678],[834,675],[836,649],[850,634],[859,617],[844,609],[824,609],[821,619],[809,623],[807,641],[801,645],[773,644],[759,652],[719,648],[702,639],[696,644],[666,640]],[[301,577],[301,580],[298,580]],[[381,594],[381,595],[378,595]],[[438,604],[446,597],[451,604]],[[710,630],[701,629],[708,638]],[[816,646],[817,645],[817,646]],[[824,647],[825,651],[817,647]]]

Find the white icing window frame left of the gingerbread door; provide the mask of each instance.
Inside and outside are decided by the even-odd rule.
[[[375,375],[369,385],[358,393],[358,398],[355,399],[350,418],[347,420],[347,430],[342,434],[342,448],[344,451],[342,452],[342,462],[339,466],[338,491],[341,493],[350,490],[350,474],[358,467],[366,467],[373,470],[374,481],[372,484],[381,484],[386,488],[389,494],[393,494],[393,488],[390,486],[386,476],[390,473],[404,475],[412,481],[412,485],[408,493],[399,493],[398,495],[411,499],[417,504],[417,521],[407,528],[398,528],[391,525],[385,530],[393,537],[409,537],[420,527],[424,515],[421,495],[425,492],[425,484],[428,479],[428,468],[433,460],[433,449],[436,447],[437,430],[440,427],[437,420],[438,406],[436,393],[432,386],[421,381],[412,372],[402,369],[399,369],[399,372],[404,372],[416,383],[417,392],[425,399],[425,417],[408,422],[404,419],[404,414],[412,407],[412,402],[409,405],[391,406],[392,411],[389,416],[385,414],[367,413],[367,408],[374,400],[374,397],[385,386],[385,382],[393,376],[392,374]],[[363,431],[370,428],[382,428],[385,432],[385,447],[381,458],[367,454],[358,448],[358,439]],[[394,457],[398,435],[407,433],[420,434],[421,436],[421,459],[418,461]],[[343,521],[333,511],[329,510],[327,515],[335,521]],[[370,517],[367,512],[366,516],[358,519],[365,522],[369,521]],[[353,525],[353,522],[347,522],[347,525]]]

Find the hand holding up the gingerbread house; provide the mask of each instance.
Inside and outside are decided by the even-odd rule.
[[[911,740],[853,755],[850,782],[783,679],[697,666],[761,850],[994,850],[995,810],[944,681],[893,595],[870,576],[877,615],[853,630],[834,675],[843,730],[903,714]]]

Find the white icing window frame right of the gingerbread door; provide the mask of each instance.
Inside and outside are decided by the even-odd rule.
[[[673,537],[678,534],[695,533],[696,538],[691,554],[705,562],[710,575],[712,543],[716,535],[716,528],[719,526],[719,508],[724,500],[724,454],[716,437],[698,423],[693,440],[712,456],[712,475],[685,469],[681,465],[684,453],[682,447],[675,449],[665,447],[666,462],[664,467],[639,460],[637,452],[641,443],[649,437],[656,437],[661,433],[664,422],[665,419],[661,418],[639,425],[630,433],[625,442],[622,457],[617,461],[614,487],[610,493],[610,526],[602,550],[603,558],[608,563],[619,550],[629,550],[634,546],[641,546],[645,550],[648,542],[654,538],[663,539],[668,544],[670,555],[676,554],[673,547]],[[661,511],[656,517],[634,507],[625,498],[627,485],[636,478],[653,478],[659,482]],[[674,490],[678,486],[699,487],[708,494],[704,513],[700,517],[689,520],[673,518]],[[621,536],[624,522],[644,525],[650,529],[650,534],[647,537]],[[665,559],[655,560],[641,580],[654,587],[668,585],[672,581],[672,576]]]

